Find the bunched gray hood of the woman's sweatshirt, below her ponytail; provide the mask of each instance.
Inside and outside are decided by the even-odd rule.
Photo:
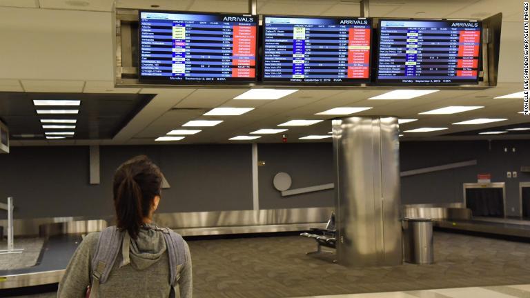
[[[140,228],[137,239],[124,237],[124,241],[130,239],[128,257],[126,251],[122,251],[124,257],[121,266],[130,265],[137,270],[144,270],[157,263],[166,252],[166,241],[162,232],[154,230],[155,224],[145,224]],[[124,243],[124,249],[126,244]]]

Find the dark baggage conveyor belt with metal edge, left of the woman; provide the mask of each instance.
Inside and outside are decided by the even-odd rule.
[[[29,268],[0,270],[0,289],[54,284],[63,276],[68,261],[81,242],[81,235],[50,237],[39,264]]]

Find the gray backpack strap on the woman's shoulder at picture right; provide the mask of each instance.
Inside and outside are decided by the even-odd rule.
[[[186,263],[186,245],[182,236],[170,228],[164,228],[162,232],[168,249],[170,285],[175,287],[179,280],[179,268]]]

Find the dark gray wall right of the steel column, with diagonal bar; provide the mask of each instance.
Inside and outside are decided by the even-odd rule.
[[[507,148],[508,152],[504,152]],[[512,151],[516,149],[516,152]],[[413,170],[476,159],[476,166],[432,172],[401,179],[403,203],[462,202],[463,183],[477,182],[477,175],[490,173],[492,182],[506,183],[508,216],[520,213],[519,183],[530,181],[521,166],[530,165],[530,141],[422,141],[400,144],[401,170]],[[517,178],[507,178],[508,171],[517,171]]]

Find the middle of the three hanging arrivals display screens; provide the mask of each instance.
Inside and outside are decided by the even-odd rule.
[[[370,78],[371,19],[264,17],[263,81]]]

